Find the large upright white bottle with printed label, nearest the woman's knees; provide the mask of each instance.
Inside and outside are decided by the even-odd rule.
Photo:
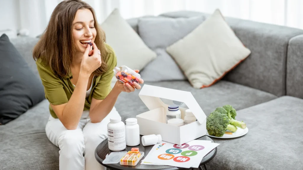
[[[107,124],[108,148],[112,151],[122,151],[126,148],[125,124],[120,116],[111,117]]]

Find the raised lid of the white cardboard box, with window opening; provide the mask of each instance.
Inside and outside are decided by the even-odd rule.
[[[147,106],[149,110],[157,109],[162,106],[162,100],[160,98],[168,100],[176,100],[183,102],[195,115],[199,123],[203,123],[206,119],[206,115],[195,100],[191,92],[169,89],[165,87],[157,87],[144,84],[139,93],[140,99]]]

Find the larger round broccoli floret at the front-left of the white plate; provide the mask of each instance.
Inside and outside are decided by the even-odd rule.
[[[206,129],[209,135],[221,137],[226,130],[235,132],[237,128],[229,125],[229,119],[226,114],[218,111],[211,112],[206,119]]]

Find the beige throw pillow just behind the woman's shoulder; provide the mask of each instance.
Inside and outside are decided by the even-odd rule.
[[[100,26],[105,32],[107,44],[115,51],[118,67],[125,65],[133,70],[142,70],[157,57],[122,18],[118,9],[114,9]]]

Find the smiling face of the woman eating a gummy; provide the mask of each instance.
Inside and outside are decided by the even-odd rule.
[[[72,26],[76,52],[84,53],[87,43],[94,42],[97,34],[94,24],[94,17],[89,9],[79,9],[77,11]]]

